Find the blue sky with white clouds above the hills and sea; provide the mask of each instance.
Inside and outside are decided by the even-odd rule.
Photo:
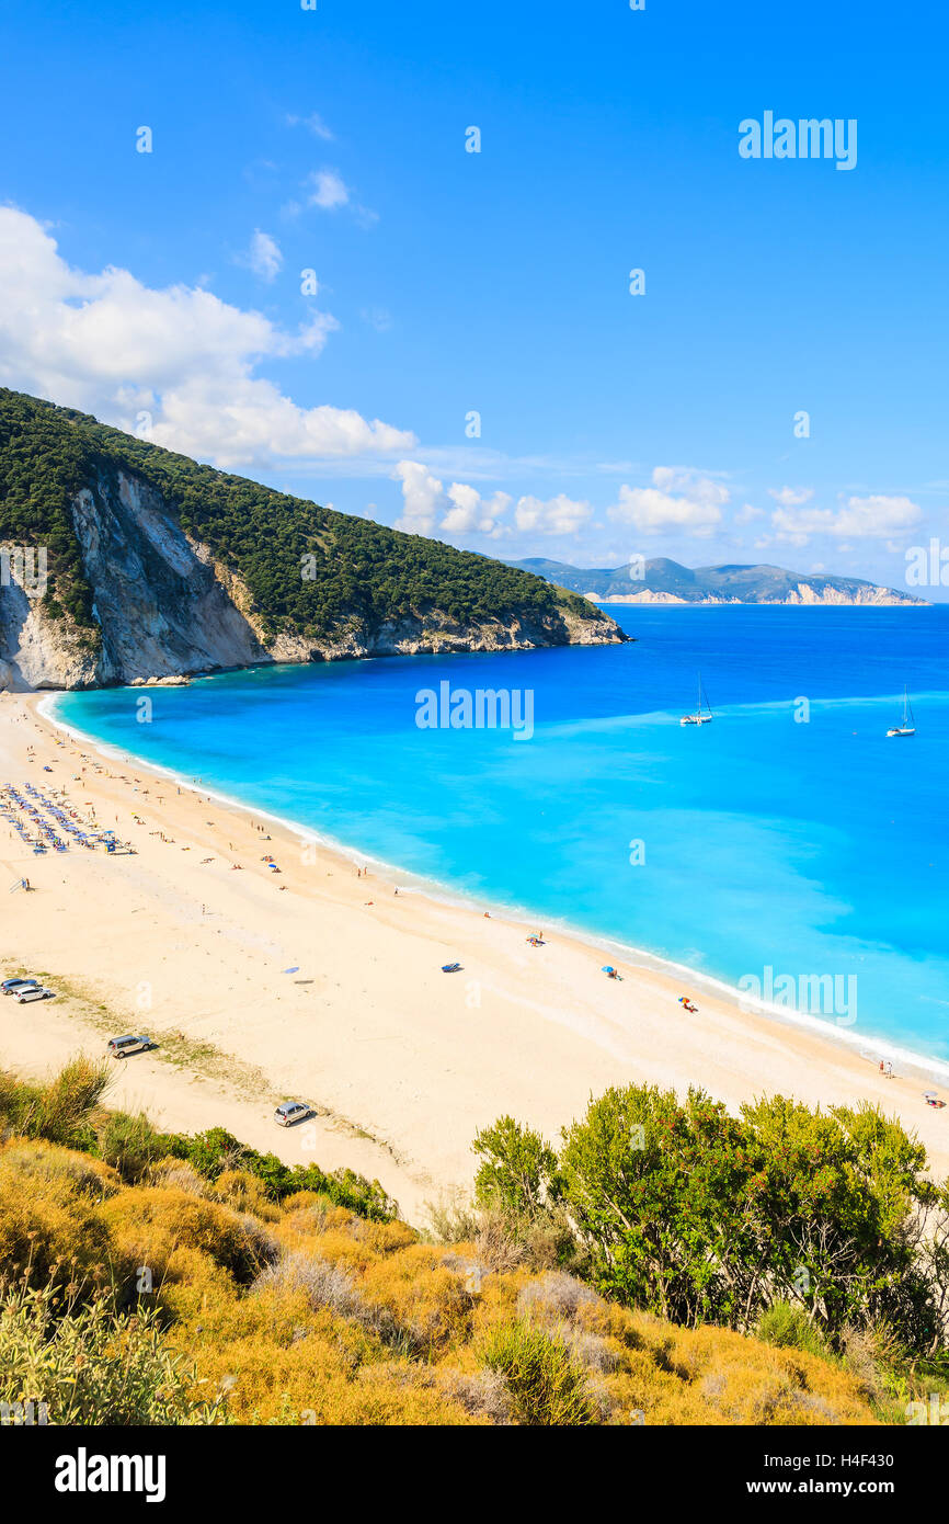
[[[934,3],[0,15],[3,384],[492,555],[949,536]],[[856,166],[742,158],[766,110]]]

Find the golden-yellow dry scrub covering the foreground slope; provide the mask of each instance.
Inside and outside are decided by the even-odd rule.
[[[169,1161],[125,1186],[82,1154],[14,1140],[0,1149],[0,1257],[30,1254],[44,1273],[117,1268],[126,1303],[148,1266],[142,1300],[239,1423],[512,1422],[524,1407],[484,1355],[512,1327],[603,1423],[874,1422],[855,1378],[815,1355],[676,1327],[559,1271],[489,1273],[475,1245],[423,1244],[311,1192],[276,1205],[239,1170],[210,1186]]]

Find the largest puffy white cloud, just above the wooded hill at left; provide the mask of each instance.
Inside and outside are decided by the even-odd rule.
[[[286,332],[198,287],[154,290],[128,270],[73,270],[26,212],[0,207],[0,383],[78,407],[221,466],[276,456],[343,459],[411,448],[411,433],[353,410],[299,407],[254,372],[317,355],[338,328],[317,312]]]

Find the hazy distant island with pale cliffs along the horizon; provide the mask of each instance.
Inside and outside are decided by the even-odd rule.
[[[926,599],[853,576],[786,572],[772,565],[684,567],[658,556],[621,567],[574,567],[533,556],[510,561],[597,604],[917,604]]]

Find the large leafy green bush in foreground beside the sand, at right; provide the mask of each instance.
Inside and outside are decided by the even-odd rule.
[[[478,1134],[475,1192],[530,1248],[564,1233],[608,1297],[675,1323],[749,1330],[775,1301],[839,1346],[890,1326],[915,1355],[949,1340],[949,1184],[876,1108],[781,1096],[733,1117],[699,1090],[591,1099],[558,1154],[510,1117]]]

